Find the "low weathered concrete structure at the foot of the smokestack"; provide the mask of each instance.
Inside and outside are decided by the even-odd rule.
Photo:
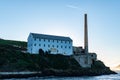
[[[82,47],[73,47],[73,57],[80,64],[81,67],[91,67],[97,60],[96,53],[85,53],[85,49]]]

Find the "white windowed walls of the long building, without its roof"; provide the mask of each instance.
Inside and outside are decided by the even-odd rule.
[[[39,49],[44,51],[50,50],[52,54],[71,55],[73,53],[72,41],[50,40],[50,39],[34,39],[32,35],[28,37],[28,52],[37,54]]]

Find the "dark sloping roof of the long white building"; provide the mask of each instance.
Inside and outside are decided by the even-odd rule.
[[[38,33],[30,33],[30,34],[33,36],[33,38],[72,41],[72,39],[70,37],[47,35],[47,34],[38,34]]]

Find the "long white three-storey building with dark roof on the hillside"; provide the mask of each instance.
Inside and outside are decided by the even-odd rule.
[[[69,37],[53,36],[30,33],[28,36],[27,50],[29,53],[38,54],[39,50],[50,51],[52,54],[71,55],[72,39]]]

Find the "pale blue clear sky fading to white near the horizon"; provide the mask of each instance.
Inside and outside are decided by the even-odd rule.
[[[0,38],[27,41],[30,32],[68,36],[84,45],[88,17],[89,52],[105,65],[120,64],[120,0],[0,0]]]

